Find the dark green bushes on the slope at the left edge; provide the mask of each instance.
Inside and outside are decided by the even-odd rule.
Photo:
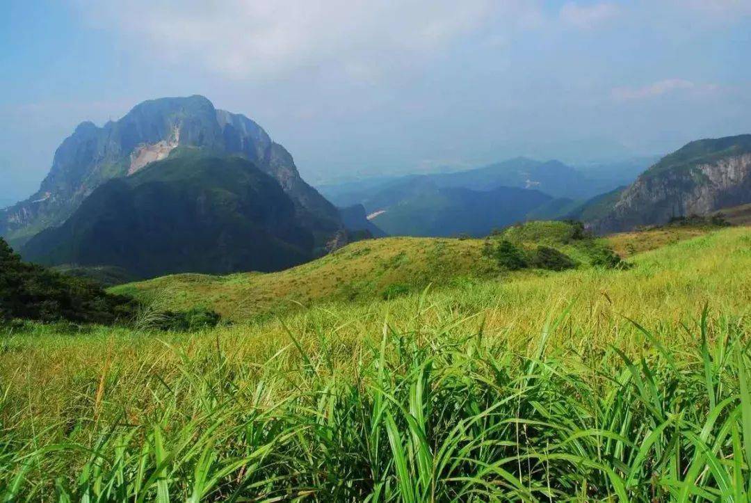
[[[0,330],[14,319],[110,324],[129,320],[135,308],[96,283],[23,262],[0,238]]]

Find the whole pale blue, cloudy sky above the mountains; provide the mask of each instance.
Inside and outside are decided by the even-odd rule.
[[[2,0],[0,205],[84,120],[201,94],[311,183],[751,132],[751,0]]]

